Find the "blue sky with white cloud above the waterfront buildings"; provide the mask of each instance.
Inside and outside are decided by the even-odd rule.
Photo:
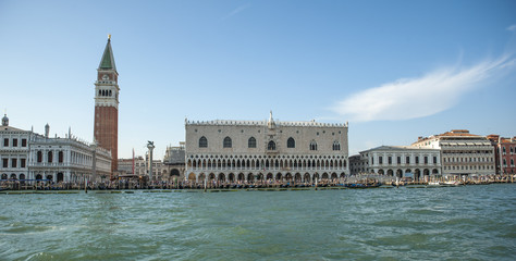
[[[93,140],[108,34],[119,158],[185,119],[348,122],[349,154],[451,129],[516,136],[516,1],[0,0],[10,125]]]

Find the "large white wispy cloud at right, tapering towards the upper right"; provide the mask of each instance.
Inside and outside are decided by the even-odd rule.
[[[468,69],[442,69],[419,78],[402,78],[355,94],[333,110],[356,122],[429,116],[452,108],[480,82],[514,63],[512,55],[506,54]]]

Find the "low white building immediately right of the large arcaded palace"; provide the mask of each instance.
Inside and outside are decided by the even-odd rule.
[[[413,177],[428,181],[430,175],[441,175],[439,149],[410,146],[381,146],[360,152],[358,162],[365,162],[366,173],[393,177]]]

